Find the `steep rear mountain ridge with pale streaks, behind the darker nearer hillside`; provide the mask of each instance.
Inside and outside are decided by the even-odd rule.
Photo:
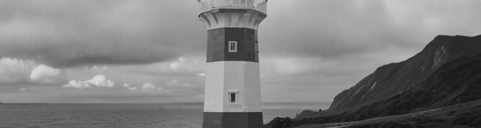
[[[481,35],[475,37],[439,35],[415,56],[379,67],[354,87],[337,95],[330,110],[355,108],[416,88],[415,85],[431,76],[444,63],[460,56],[473,56],[479,52]]]

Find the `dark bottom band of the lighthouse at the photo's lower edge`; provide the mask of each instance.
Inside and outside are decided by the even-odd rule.
[[[204,112],[203,128],[260,128],[262,112]]]

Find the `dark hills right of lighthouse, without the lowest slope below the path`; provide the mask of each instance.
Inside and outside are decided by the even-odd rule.
[[[338,94],[329,110],[277,118],[266,126],[358,121],[481,99],[480,52],[481,35],[437,36],[415,56],[382,66]]]

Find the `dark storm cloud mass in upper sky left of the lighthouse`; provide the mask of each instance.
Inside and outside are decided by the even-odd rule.
[[[0,57],[64,68],[166,61],[204,50],[197,3],[2,1]]]

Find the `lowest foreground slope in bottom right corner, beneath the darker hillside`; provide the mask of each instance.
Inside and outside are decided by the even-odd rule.
[[[450,105],[414,113],[377,117],[361,121],[304,124],[297,128],[313,127],[479,127],[481,100]]]

